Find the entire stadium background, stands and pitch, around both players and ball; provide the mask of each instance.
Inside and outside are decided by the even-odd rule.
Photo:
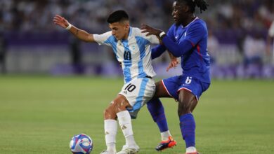
[[[0,153],[69,153],[74,134],[105,148],[103,109],[122,87],[122,72],[111,48],[84,43],[53,24],[65,16],[90,33],[108,31],[105,19],[125,9],[133,27],[141,23],[167,31],[173,23],[171,0],[1,0]],[[197,16],[209,29],[211,87],[195,109],[197,147],[202,153],[274,153],[273,46],[268,29],[273,0],[208,0]],[[157,78],[166,72],[167,55],[153,61]],[[159,80],[159,79],[156,79]],[[178,141],[164,153],[182,153],[176,103],[163,99],[169,128]],[[141,153],[156,153],[157,127],[147,109],[133,121]],[[117,150],[124,144],[117,137]]]

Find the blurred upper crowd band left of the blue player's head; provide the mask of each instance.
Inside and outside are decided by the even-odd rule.
[[[0,29],[5,31],[55,31],[53,16],[63,15],[83,29],[105,31],[106,18],[110,12],[125,9],[131,24],[140,27],[150,22],[162,27],[170,13],[170,1],[148,0],[1,0]],[[168,8],[168,9],[167,9]]]

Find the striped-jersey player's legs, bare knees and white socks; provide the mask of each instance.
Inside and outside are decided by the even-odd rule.
[[[126,148],[131,148],[131,153],[136,153],[139,150],[139,147],[136,145],[136,142],[133,137],[132,125],[131,125],[131,116],[129,111],[126,110],[127,107],[131,107],[129,102],[126,100],[126,97],[123,95],[118,95],[115,100],[110,104],[110,106],[105,109],[104,118],[105,118],[105,141],[107,144],[107,151],[116,153],[115,142],[117,134],[117,118],[119,120],[119,125],[122,129],[124,137],[126,139]],[[115,126],[115,124],[116,126]],[[116,132],[113,131],[112,127],[116,128]],[[124,147],[123,147],[124,148]],[[121,152],[119,152],[121,153]]]

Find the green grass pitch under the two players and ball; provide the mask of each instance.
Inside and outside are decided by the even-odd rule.
[[[105,149],[103,110],[123,80],[89,77],[0,76],[0,153],[70,153],[74,134]],[[162,153],[184,153],[177,103],[162,99],[178,145]],[[203,154],[274,153],[273,80],[213,80],[194,112],[197,149]],[[144,108],[133,120],[142,153],[157,153],[160,135]],[[124,137],[117,134],[117,151]]]

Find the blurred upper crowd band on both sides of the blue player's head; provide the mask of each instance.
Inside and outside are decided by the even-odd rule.
[[[1,0],[0,29],[5,31],[55,30],[52,18],[65,16],[83,28],[98,29],[113,10],[125,9],[133,25],[149,22],[167,28],[172,0]],[[209,9],[202,18],[211,29],[253,31],[267,29],[274,20],[273,0],[207,0]],[[199,12],[199,11],[198,11]],[[105,30],[105,29],[103,29]]]

